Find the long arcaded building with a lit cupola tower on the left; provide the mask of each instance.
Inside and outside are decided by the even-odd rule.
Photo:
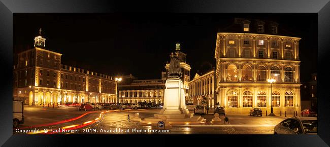
[[[18,53],[13,67],[13,99],[29,105],[116,102],[111,76],[62,65],[62,54],[46,50],[45,41],[40,29],[34,48]]]

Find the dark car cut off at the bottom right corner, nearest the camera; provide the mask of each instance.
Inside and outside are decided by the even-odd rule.
[[[317,134],[316,117],[288,118],[274,127],[274,134]]]

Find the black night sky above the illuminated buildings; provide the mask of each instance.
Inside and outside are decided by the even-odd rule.
[[[218,28],[234,18],[274,20],[300,37],[301,82],[317,65],[317,14],[21,14],[14,13],[14,54],[32,48],[39,28],[46,49],[62,54],[61,63],[111,76],[160,79],[175,44],[187,54],[191,78],[215,66]],[[279,32],[280,33],[280,32]]]

